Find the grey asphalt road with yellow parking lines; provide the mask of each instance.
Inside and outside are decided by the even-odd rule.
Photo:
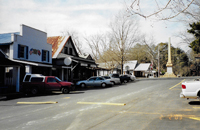
[[[198,129],[200,102],[179,97],[181,81],[183,79],[139,80],[108,88],[89,87],[70,94],[55,92],[1,100],[0,129]],[[19,102],[37,104],[17,104]],[[50,104],[39,104],[48,102]]]

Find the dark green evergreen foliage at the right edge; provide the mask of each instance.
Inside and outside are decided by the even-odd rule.
[[[189,47],[195,54],[198,54],[200,53],[200,21],[189,25],[191,29],[188,30],[188,33],[194,35],[194,41],[190,43]]]

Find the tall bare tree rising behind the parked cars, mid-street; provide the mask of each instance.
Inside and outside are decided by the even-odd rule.
[[[111,22],[110,27],[110,41],[113,48],[110,51],[113,53],[112,58],[121,65],[121,73],[123,73],[128,50],[139,41],[138,21],[136,17],[127,17],[120,12]]]

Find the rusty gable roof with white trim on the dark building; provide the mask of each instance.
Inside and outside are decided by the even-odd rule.
[[[47,37],[47,43],[52,44],[52,58],[58,57],[59,53],[63,50],[66,43],[71,40],[72,47],[78,56],[74,43],[71,39],[71,36],[53,36]]]

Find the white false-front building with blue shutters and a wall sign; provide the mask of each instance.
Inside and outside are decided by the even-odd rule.
[[[4,59],[17,64],[7,62],[1,68],[4,86],[14,86],[19,92],[26,73],[51,75],[52,45],[47,43],[47,33],[22,24],[20,32],[0,34],[0,49]]]

